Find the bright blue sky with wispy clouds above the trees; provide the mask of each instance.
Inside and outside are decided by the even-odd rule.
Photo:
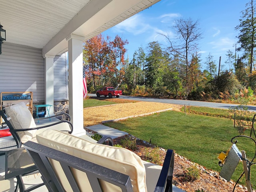
[[[161,34],[174,36],[172,25],[176,19],[198,20],[202,39],[198,41],[202,59],[202,69],[209,53],[216,64],[221,56],[225,65],[228,50],[235,52],[238,31],[234,28],[240,23],[241,11],[248,0],[161,0],[152,7],[135,14],[102,34],[114,38],[117,34],[127,39],[129,60],[139,47],[146,48],[149,42],[158,41],[162,48],[168,42]],[[126,54],[126,58],[127,58]],[[239,53],[238,53],[239,54]],[[225,66],[228,68],[228,66]]]

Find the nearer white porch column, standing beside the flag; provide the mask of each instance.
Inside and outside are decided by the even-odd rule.
[[[83,40],[71,34],[68,41],[68,98],[69,115],[74,135],[85,134],[83,115]]]

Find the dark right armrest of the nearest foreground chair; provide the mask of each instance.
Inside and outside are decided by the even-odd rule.
[[[174,168],[174,152],[168,149],[164,159],[158,182],[154,192],[172,192],[172,174]]]

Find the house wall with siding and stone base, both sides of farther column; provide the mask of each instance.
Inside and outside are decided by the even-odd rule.
[[[44,104],[42,49],[4,42],[0,55],[0,92],[32,91],[33,102]],[[68,112],[67,53],[54,58],[54,113]]]

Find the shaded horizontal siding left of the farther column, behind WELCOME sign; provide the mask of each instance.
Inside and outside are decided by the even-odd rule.
[[[0,92],[32,91],[33,101],[44,101],[42,49],[4,42],[0,55]]]

